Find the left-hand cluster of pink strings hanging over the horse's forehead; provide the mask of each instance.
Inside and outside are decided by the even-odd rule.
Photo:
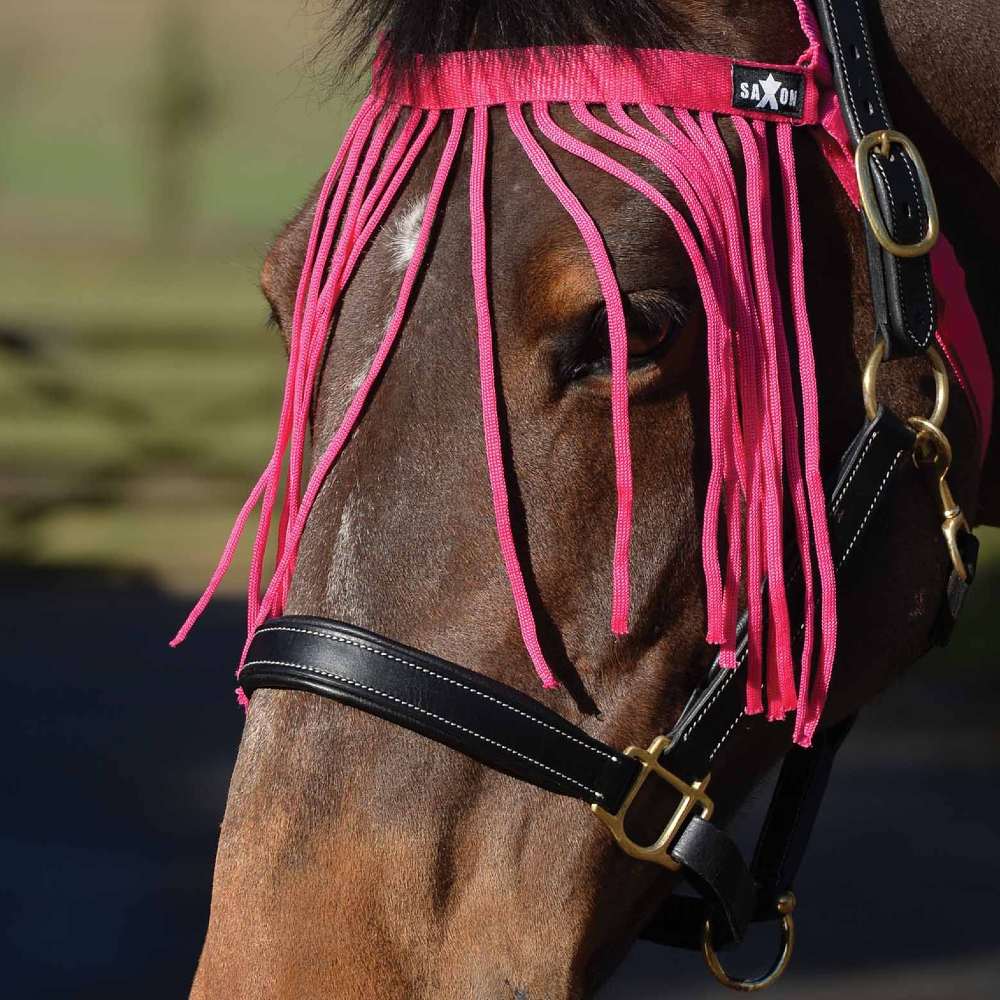
[[[391,150],[375,168],[382,156],[386,139],[398,122],[400,108],[384,106],[369,97],[359,109],[347,130],[344,141],[321,187],[313,216],[293,313],[289,338],[289,361],[284,395],[278,419],[278,432],[270,461],[253,487],[233,525],[229,539],[208,586],[179,629],[171,645],[182,642],[201,616],[229,569],[253,511],[260,505],[260,515],[250,563],[248,589],[248,633],[272,614],[280,613],[291,574],[305,519],[308,516],[321,481],[319,469],[332,467],[343,441],[350,435],[364,407],[371,386],[391,352],[392,344],[402,326],[403,316],[426,250],[429,230],[447,177],[438,176],[428,197],[424,221],[417,246],[402,281],[392,319],[373,359],[367,377],[343,418],[341,426],[327,451],[316,462],[313,475],[301,493],[301,475],[305,455],[305,439],[309,426],[312,394],[326,345],[332,316],[357,262],[384,221],[389,208],[412,168],[435,131],[440,114],[437,111],[409,111],[406,123],[399,131]],[[418,131],[419,130],[419,131]],[[445,157],[453,158],[461,128],[446,144]],[[449,153],[450,151],[450,153]],[[362,159],[363,157],[363,159]],[[447,165],[450,165],[450,159]],[[287,482],[280,508],[279,555],[277,567],[263,598],[260,594],[267,541],[275,506],[281,496],[283,468],[287,462]]]

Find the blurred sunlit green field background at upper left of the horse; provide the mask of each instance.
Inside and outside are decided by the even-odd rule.
[[[298,0],[0,6],[0,560],[205,578],[276,419],[257,272],[353,103],[321,31]]]

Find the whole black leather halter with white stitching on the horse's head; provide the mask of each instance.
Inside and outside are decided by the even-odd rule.
[[[864,4],[818,0],[817,7],[844,115],[857,143],[891,127]],[[871,157],[867,165],[884,229],[896,244],[919,243],[933,206],[926,204],[908,149],[884,154],[883,149],[883,155]],[[927,257],[884,249],[884,238],[880,242],[871,218],[862,216],[877,336],[895,353],[922,351],[936,327]],[[831,546],[841,587],[896,482],[914,475],[911,463],[904,460],[913,447],[913,431],[879,410],[828,483]],[[975,551],[969,547],[965,552],[971,579]],[[788,570],[789,580],[796,579],[798,567]],[[801,622],[801,607],[793,614]],[[286,688],[343,702],[522,781],[581,799],[626,853],[683,872],[699,893],[698,898],[672,896],[646,928],[646,937],[702,948],[712,966],[717,961],[714,948],[739,942],[752,921],[780,920],[786,929],[786,950],[779,963],[783,969],[790,952],[792,882],[834,754],[853,719],[821,730],[810,749],[793,747],[786,754],[748,866],[729,836],[712,822],[709,786],[723,748],[749,746],[767,724],[763,716],[744,712],[745,621],[739,639],[737,669],[726,670],[716,660],[669,734],[658,737],[648,750],[629,747],[620,752],[483,674],[322,618],[286,616],[266,622],[253,638],[240,681],[248,696],[258,688]],[[624,821],[639,787],[652,779],[668,786],[677,805],[657,840],[642,845],[628,835]],[[734,983],[717,965],[713,971],[740,989],[762,985]]]

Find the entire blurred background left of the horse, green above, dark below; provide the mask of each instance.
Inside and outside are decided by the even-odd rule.
[[[0,2],[13,1000],[176,1000],[191,982],[242,725],[245,551],[191,640],[167,640],[270,452],[285,357],[257,276],[354,103],[311,65],[323,16]]]

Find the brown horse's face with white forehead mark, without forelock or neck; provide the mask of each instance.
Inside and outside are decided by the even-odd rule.
[[[578,131],[568,114],[556,114]],[[629,635],[615,639],[601,296],[572,222],[509,130],[492,134],[491,296],[513,520],[542,643],[563,682],[544,700],[610,743],[644,743],[669,726],[711,655],[699,555],[704,314],[663,216],[543,143],[605,237],[630,319],[633,615]],[[382,335],[440,141],[401,192],[336,317],[316,391],[314,449],[336,429]],[[829,463],[860,423],[856,354],[870,326],[863,265],[849,266],[863,259],[850,210],[808,139],[799,145]],[[738,144],[730,146],[738,161]],[[499,559],[483,453],[461,169],[468,156],[466,142],[402,337],[310,515],[287,610],[365,626],[541,696]],[[672,197],[647,163],[628,166]],[[311,213],[309,203],[265,264],[264,290],[286,330]],[[852,328],[857,349],[844,332]],[[886,386],[901,412],[921,405],[903,388],[908,378],[901,371]],[[912,516],[922,524],[928,513]],[[924,622],[933,612],[940,559],[888,539],[876,541],[872,558],[908,577],[914,603],[889,608],[844,595],[852,629],[842,662],[864,636],[868,662],[880,666],[843,673],[832,717],[922,649],[922,625],[890,635],[885,623],[900,615]],[[720,760],[713,785],[723,813],[788,738],[779,727],[774,733],[774,746]],[[666,879],[618,852],[578,803],[343,706],[258,692],[195,995],[231,995],[238,980],[245,997],[578,996],[620,957]]]

